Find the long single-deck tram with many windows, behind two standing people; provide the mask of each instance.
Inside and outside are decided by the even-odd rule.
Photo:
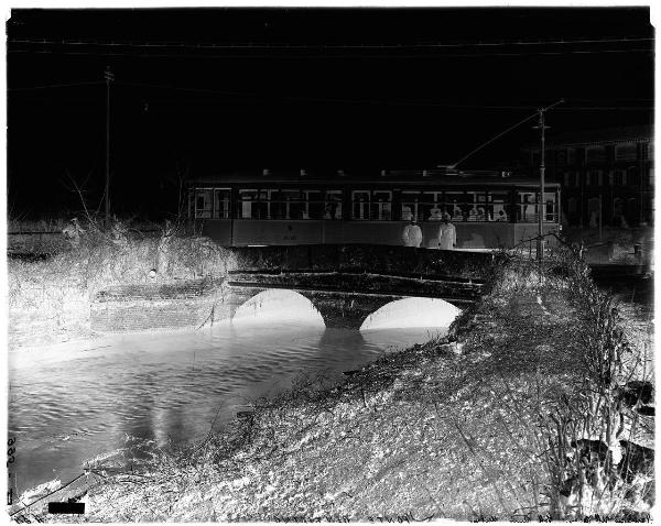
[[[302,171],[303,173],[303,171]],[[377,177],[229,174],[194,180],[188,217],[224,245],[403,244],[416,220],[437,248],[444,215],[458,249],[512,248],[538,234],[539,182],[499,173],[381,172]],[[543,232],[559,229],[560,186],[545,185]]]

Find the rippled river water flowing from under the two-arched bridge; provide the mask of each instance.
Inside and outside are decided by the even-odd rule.
[[[161,445],[201,439],[214,421],[221,428],[251,399],[288,388],[300,375],[342,377],[443,331],[361,332],[267,317],[10,353],[14,491],[53,479],[66,483],[85,461],[126,447],[127,437]]]

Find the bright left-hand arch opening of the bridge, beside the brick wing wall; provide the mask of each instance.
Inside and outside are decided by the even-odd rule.
[[[323,316],[314,304],[302,294],[284,288],[267,288],[240,305],[231,320],[251,321],[259,319],[268,322],[296,321],[325,327]]]

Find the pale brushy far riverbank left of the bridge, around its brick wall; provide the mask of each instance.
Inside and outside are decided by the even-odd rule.
[[[42,259],[9,259],[10,350],[95,339],[90,304],[99,291],[221,278],[235,265],[230,253],[205,238],[85,227],[75,242],[33,246]]]

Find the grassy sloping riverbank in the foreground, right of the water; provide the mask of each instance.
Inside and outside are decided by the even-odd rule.
[[[644,518],[650,338],[627,338],[579,262],[550,263],[540,286],[512,260],[447,339],[260,399],[227,432],[120,474],[100,461],[80,518]]]

